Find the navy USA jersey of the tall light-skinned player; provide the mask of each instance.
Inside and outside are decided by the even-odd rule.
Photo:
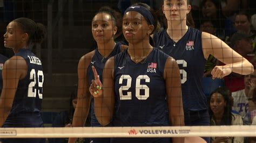
[[[176,59],[179,65],[184,112],[206,110],[207,98],[202,83],[206,60],[202,50],[201,31],[188,27],[176,46],[166,30],[154,34],[153,39],[156,47]]]

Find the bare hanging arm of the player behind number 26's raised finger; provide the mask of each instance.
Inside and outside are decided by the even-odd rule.
[[[88,78],[86,74],[93,54],[94,51],[82,56],[78,63],[77,105],[72,120],[73,127],[84,126],[84,123],[89,113],[91,94],[89,92]],[[69,143],[75,141],[76,138],[69,139]]]

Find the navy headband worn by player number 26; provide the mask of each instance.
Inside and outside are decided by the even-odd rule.
[[[147,21],[147,23],[148,24],[152,24],[152,25],[154,25],[155,23],[154,23],[154,17],[153,17],[153,15],[152,15],[152,13],[149,11],[149,10],[147,10],[144,6],[140,6],[140,5],[133,5],[133,6],[130,6],[129,8],[127,8],[126,10],[125,10],[125,12],[124,13],[126,13],[126,12],[129,12],[129,11],[137,11],[137,12],[139,12],[141,15],[143,15],[143,17],[146,19],[146,21]]]

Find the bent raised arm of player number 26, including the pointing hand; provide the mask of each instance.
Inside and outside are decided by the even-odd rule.
[[[107,60],[103,70],[103,85],[93,67],[95,80],[90,86],[90,92],[95,99],[95,115],[103,126],[110,123],[114,112],[114,58]],[[103,87],[103,88],[101,88]]]

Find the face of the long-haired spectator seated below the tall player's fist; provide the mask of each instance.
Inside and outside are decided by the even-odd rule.
[[[224,108],[226,106],[226,101],[223,97],[223,95],[219,93],[214,93],[211,96],[210,100],[210,108],[214,115],[219,115],[224,112]]]

